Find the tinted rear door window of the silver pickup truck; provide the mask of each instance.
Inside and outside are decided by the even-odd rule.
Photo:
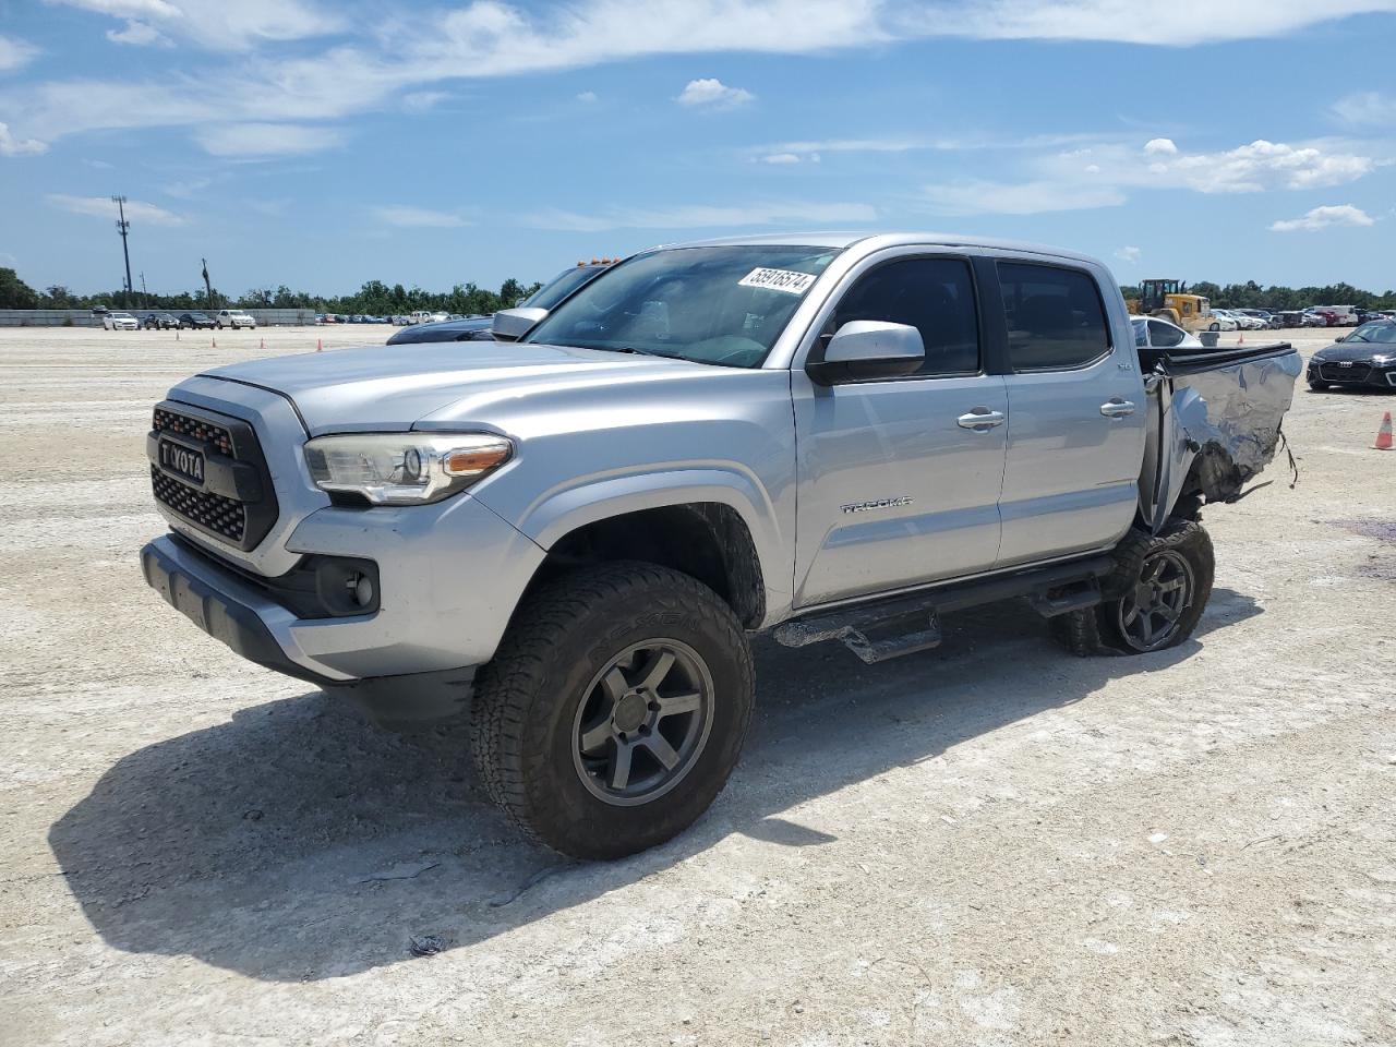
[[[998,262],[1015,371],[1083,367],[1110,352],[1100,289],[1089,274],[1058,265]]]

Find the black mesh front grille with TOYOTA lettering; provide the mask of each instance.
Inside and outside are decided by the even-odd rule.
[[[200,468],[162,463],[162,443],[176,444],[181,459],[193,454]],[[267,459],[242,419],[165,401],[151,417],[147,452],[155,500],[195,530],[246,551],[276,522]]]

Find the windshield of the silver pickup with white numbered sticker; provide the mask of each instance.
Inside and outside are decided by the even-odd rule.
[[[838,254],[772,244],[641,254],[578,290],[524,341],[759,367]]]

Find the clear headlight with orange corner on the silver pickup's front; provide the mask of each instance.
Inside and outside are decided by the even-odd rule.
[[[490,433],[350,433],[306,444],[322,491],[374,505],[423,505],[463,491],[508,461],[514,445]]]

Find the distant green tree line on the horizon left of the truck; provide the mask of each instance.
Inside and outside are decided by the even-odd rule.
[[[369,313],[391,315],[433,310],[440,313],[489,314],[511,309],[539,289],[539,283],[522,283],[507,279],[498,290],[487,290],[475,283],[456,283],[451,290],[434,292],[422,288],[403,288],[401,283],[388,286],[383,281],[369,281],[352,295],[309,295],[279,288],[253,288],[240,297],[232,299],[214,288],[212,302],[202,290],[186,290],[174,295],[145,295],[124,290],[103,290],[94,295],[75,295],[61,285],[35,290],[14,269],[0,268],[0,309],[107,309],[188,311],[207,309],[303,309],[315,313]]]

